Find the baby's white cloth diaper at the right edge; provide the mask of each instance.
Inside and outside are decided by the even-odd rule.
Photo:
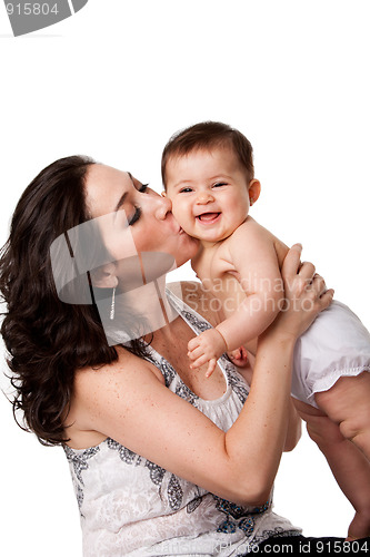
[[[318,408],[316,392],[362,371],[370,371],[370,333],[347,305],[333,301],[297,342],[291,393]]]

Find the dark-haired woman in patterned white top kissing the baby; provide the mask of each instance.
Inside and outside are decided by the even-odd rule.
[[[198,285],[183,285],[189,305],[164,290],[169,261],[198,248],[170,209],[129,173],[68,157],[26,189],[2,251],[14,410],[64,447],[87,556],[230,556],[301,539],[271,492],[299,438],[294,342],[333,292],[293,246],[287,310],[259,342],[250,388],[226,358],[206,379],[187,344],[217,317]]]

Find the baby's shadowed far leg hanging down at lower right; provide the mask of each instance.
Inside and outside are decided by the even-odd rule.
[[[324,455],[340,489],[356,510],[348,539],[370,536],[370,461],[323,412],[294,402],[310,438]]]

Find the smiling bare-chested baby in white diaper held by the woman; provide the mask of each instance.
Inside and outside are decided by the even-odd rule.
[[[230,126],[208,121],[176,134],[163,150],[162,178],[174,217],[200,240],[192,267],[220,304],[223,321],[188,346],[192,368],[209,362],[210,375],[223,352],[237,364],[243,346],[254,354],[283,309],[288,247],[249,216],[261,186],[250,141]],[[370,536],[369,371],[369,332],[332,302],[297,343],[292,397],[356,509],[348,539]]]

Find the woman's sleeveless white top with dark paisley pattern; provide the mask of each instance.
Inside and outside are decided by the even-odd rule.
[[[170,291],[168,297],[197,334],[211,326]],[[191,392],[152,348],[148,360],[161,371],[170,391],[223,431],[238,418],[249,388],[227,358],[219,360],[227,390],[208,401]],[[84,557],[237,557],[271,535],[300,532],[272,512],[271,500],[259,508],[240,507],[112,439],[86,450],[64,450],[80,508]]]

